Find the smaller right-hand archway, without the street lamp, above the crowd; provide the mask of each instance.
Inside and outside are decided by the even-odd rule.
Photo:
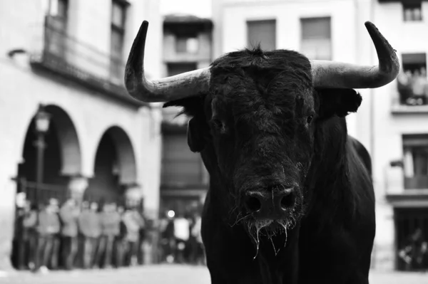
[[[96,151],[94,175],[86,190],[86,198],[95,201],[118,201],[124,189],[136,184],[136,157],[126,132],[110,127],[104,132]]]

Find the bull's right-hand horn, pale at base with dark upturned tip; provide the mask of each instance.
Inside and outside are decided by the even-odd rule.
[[[394,49],[370,21],[365,22],[379,65],[354,65],[335,61],[311,61],[315,88],[379,88],[397,78],[399,61]]]

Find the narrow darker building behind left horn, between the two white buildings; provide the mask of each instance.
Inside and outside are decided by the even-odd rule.
[[[167,15],[163,21],[163,73],[172,76],[210,65],[213,23],[190,15]],[[187,214],[200,209],[209,175],[199,153],[188,147],[184,115],[178,107],[163,109],[161,213]]]

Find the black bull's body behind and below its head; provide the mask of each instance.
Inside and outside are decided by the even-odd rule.
[[[220,185],[210,180],[202,236],[213,284],[368,283],[375,231],[370,156],[347,135],[345,119],[331,119],[322,131],[325,144],[314,165],[321,172],[308,177],[314,188],[307,213],[277,256],[261,242],[253,259],[251,239],[242,226],[224,221]]]

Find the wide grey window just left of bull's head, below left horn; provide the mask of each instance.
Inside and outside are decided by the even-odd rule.
[[[169,186],[202,184],[202,160],[200,154],[190,151],[185,132],[165,133],[163,137],[162,184]]]

